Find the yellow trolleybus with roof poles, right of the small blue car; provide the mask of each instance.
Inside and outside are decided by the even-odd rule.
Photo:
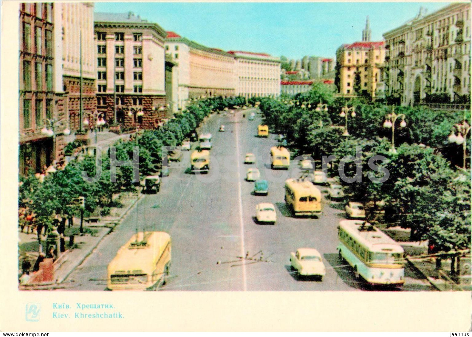
[[[295,216],[312,216],[321,213],[321,192],[308,180],[287,179],[285,202]]]

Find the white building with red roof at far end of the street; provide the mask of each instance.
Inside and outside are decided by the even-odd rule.
[[[278,97],[280,94],[280,59],[269,54],[228,51],[234,55],[236,96]]]

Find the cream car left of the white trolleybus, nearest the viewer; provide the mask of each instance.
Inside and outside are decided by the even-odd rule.
[[[290,253],[292,270],[300,276],[316,276],[321,281],[326,275],[326,268],[320,253],[314,248],[298,248]]]

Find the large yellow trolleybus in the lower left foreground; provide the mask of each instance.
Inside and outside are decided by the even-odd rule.
[[[108,289],[155,290],[166,283],[171,242],[165,232],[131,236],[108,265]]]

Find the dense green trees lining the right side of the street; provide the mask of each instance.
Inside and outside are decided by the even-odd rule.
[[[311,155],[315,160],[334,155],[333,168],[346,156],[356,157],[345,163],[345,174],[354,177],[361,172],[360,181],[346,183],[350,200],[380,204],[388,226],[411,228],[413,240],[429,239],[438,249],[470,249],[471,182],[470,169],[462,166],[462,146],[450,144],[448,135],[454,124],[470,120],[470,112],[438,112],[423,107],[395,107],[405,114],[407,126],[396,124],[396,152],[391,151],[391,129],[383,122],[392,106],[354,100],[335,99],[334,91],[315,84],[308,93],[290,99],[253,98],[260,102],[265,122],[276,132],[286,135],[295,155]],[[327,104],[328,111],[318,104]],[[356,112],[348,115],[349,136],[343,136],[345,118],[339,116],[345,106]],[[334,126],[334,127],[333,127]],[[338,127],[336,127],[338,126]],[[468,144],[470,153],[470,144]],[[381,155],[372,169],[369,160]],[[470,162],[470,161],[469,161]],[[388,179],[375,182],[388,172]],[[331,175],[337,175],[335,169]],[[374,181],[373,181],[374,180]]]

